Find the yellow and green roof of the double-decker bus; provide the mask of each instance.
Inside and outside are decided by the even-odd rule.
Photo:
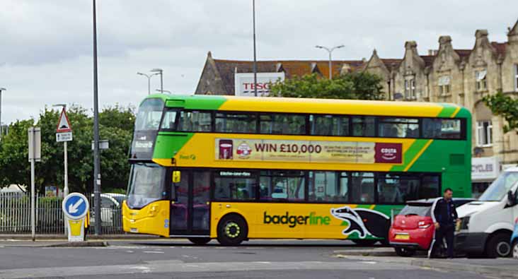
[[[396,102],[285,97],[237,97],[229,95],[165,95],[167,107],[247,112],[291,112],[315,114],[359,114],[404,117],[471,117],[468,109],[439,102]]]

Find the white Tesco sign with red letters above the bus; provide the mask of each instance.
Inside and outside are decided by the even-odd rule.
[[[258,96],[270,94],[270,83],[284,81],[284,72],[257,73],[257,83],[253,83],[253,73],[234,73],[236,96],[252,96],[257,88]]]

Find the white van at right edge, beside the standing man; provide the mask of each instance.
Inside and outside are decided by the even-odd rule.
[[[478,201],[457,208],[461,226],[456,251],[491,258],[510,256],[511,234],[518,218],[518,167],[504,170]]]

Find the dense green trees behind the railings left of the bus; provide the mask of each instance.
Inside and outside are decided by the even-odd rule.
[[[74,131],[74,140],[68,143],[70,191],[90,192],[93,189],[93,119],[86,109],[73,105],[67,114]],[[63,143],[56,142],[56,124],[59,114],[45,107],[38,122],[34,119],[16,121],[9,126],[9,133],[0,142],[0,187],[9,184],[30,185],[30,165],[27,160],[27,129],[40,126],[42,158],[36,164],[36,186],[64,183]],[[99,113],[100,138],[110,141],[110,149],[100,153],[103,191],[125,189],[129,175],[127,160],[134,125],[132,108],[116,105],[105,107]],[[117,190],[118,191],[118,190]]]

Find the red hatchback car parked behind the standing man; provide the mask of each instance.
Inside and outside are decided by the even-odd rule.
[[[408,201],[394,218],[388,241],[399,256],[413,256],[417,250],[428,250],[434,237],[432,206],[438,198]],[[473,201],[472,198],[454,198],[455,205]]]

